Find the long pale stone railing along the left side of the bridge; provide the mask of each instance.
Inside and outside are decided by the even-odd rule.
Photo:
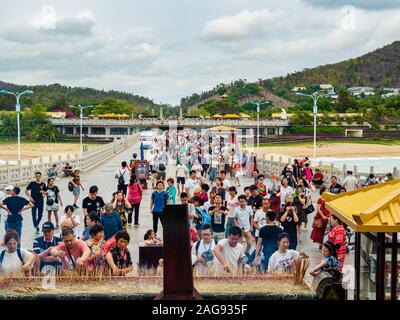
[[[111,143],[98,147],[92,151],[84,152],[82,156],[79,153],[59,155],[57,158],[49,156],[29,161],[22,161],[18,164],[10,164],[0,167],[0,189],[7,185],[24,185],[34,179],[35,172],[40,171],[43,178],[47,178],[47,172],[53,164],[57,164],[58,174],[62,175],[62,169],[66,163],[69,163],[73,169],[90,170],[115,154],[126,150],[133,144],[139,142],[140,135],[135,134],[127,136]]]

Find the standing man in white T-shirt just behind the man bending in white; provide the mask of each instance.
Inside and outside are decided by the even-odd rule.
[[[247,206],[247,199],[245,195],[238,197],[239,207],[235,209],[234,213],[234,224],[242,230],[243,237],[246,239],[246,252],[248,254],[251,245],[253,244],[253,236],[251,235],[253,226],[253,211]]]

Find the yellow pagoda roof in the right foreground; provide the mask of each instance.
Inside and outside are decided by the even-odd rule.
[[[357,232],[400,232],[400,179],[322,197],[328,210]]]

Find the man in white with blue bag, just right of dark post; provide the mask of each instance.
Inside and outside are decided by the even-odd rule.
[[[201,227],[201,239],[192,246],[192,265],[198,275],[206,275],[215,271],[213,268],[215,268],[216,263],[215,242],[209,224],[204,224]]]

